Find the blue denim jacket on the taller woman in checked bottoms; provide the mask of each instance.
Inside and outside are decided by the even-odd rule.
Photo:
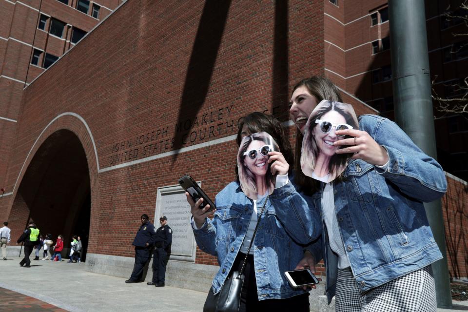
[[[389,119],[363,115],[359,129],[384,146],[390,157],[385,171],[361,159],[352,160],[344,180],[333,185],[336,218],[351,270],[358,287],[366,291],[442,258],[423,202],[442,197],[447,180],[437,161]],[[321,211],[322,191],[312,197]],[[323,237],[330,302],[338,261],[325,227]],[[316,246],[311,251],[317,261],[322,258]]]

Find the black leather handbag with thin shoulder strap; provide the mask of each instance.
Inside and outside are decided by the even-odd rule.
[[[268,196],[265,199],[262,210],[260,212],[260,218],[263,215],[265,206],[267,205]],[[213,286],[208,291],[208,296],[205,300],[205,305],[203,306],[203,312],[238,312],[240,307],[240,295],[242,293],[242,285],[244,285],[244,269],[247,256],[250,253],[252,243],[254,242],[255,234],[257,233],[258,223],[260,223],[260,218],[258,219],[257,224],[255,225],[254,234],[250,241],[249,248],[247,249],[247,254],[242,263],[242,267],[239,271],[234,271],[226,278],[224,284],[221,286],[221,290],[215,294]]]

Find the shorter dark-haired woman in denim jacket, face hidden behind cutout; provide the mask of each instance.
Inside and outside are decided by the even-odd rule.
[[[257,132],[271,135],[277,146],[266,144],[268,140]],[[249,138],[242,141],[245,136]],[[216,195],[213,219],[207,217],[209,206],[199,208],[203,199],[195,203],[186,193],[192,207],[196,243],[202,251],[217,256],[220,266],[213,280],[213,291],[219,292],[226,278],[240,271],[259,222],[247,255],[239,311],[308,312],[309,293],[293,289],[284,272],[293,270],[302,258],[303,248],[299,243],[306,244],[320,235],[319,216],[309,211],[302,220],[294,217],[294,210],[305,211],[308,204],[288,179],[292,151],[277,120],[261,113],[246,116],[237,134],[237,143],[241,141],[244,144],[238,153],[242,164],[239,164],[238,179]],[[249,176],[246,180],[252,182],[254,198],[244,193],[247,189],[241,186],[239,176],[240,180]],[[273,180],[274,188],[271,188]],[[259,215],[264,205],[265,212]]]

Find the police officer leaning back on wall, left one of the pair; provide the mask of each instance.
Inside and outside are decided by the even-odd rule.
[[[132,275],[125,283],[138,283],[146,263],[151,258],[151,251],[156,239],[156,228],[148,221],[148,215],[141,215],[141,226],[132,243],[135,246],[135,265]]]

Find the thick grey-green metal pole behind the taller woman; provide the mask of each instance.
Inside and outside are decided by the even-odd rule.
[[[389,11],[395,119],[419,148],[437,159],[424,0],[389,0]],[[437,306],[450,308],[441,200],[427,203],[425,208],[435,241],[444,256],[432,264]]]

